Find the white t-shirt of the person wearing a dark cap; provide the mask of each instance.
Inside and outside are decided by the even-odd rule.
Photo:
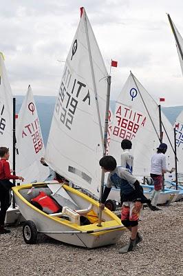
[[[151,173],[162,175],[162,170],[166,170],[166,157],[162,152],[155,152],[151,158]]]

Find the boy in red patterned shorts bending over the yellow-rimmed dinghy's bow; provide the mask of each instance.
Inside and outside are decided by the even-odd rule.
[[[117,167],[114,157],[107,155],[100,159],[99,164],[104,172],[110,172],[101,199],[100,208],[105,208],[105,201],[110,193],[111,186],[113,184],[120,185],[120,197],[123,202],[121,221],[131,231],[131,238],[127,246],[122,247],[119,253],[127,253],[142,241],[142,237],[138,233],[138,219],[140,212],[142,212],[142,204],[147,203],[149,199],[144,196],[136,177],[131,175],[125,168]]]

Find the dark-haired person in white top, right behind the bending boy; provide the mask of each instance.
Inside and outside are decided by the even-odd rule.
[[[133,155],[131,153],[132,143],[128,139],[123,139],[121,142],[121,148],[123,150],[121,154],[121,166],[127,168],[129,172],[133,172]]]

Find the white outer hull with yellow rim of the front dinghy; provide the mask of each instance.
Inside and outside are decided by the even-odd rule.
[[[69,187],[69,190],[70,189],[72,188]],[[76,191],[76,193],[78,194],[79,192]],[[67,221],[61,218],[58,219],[58,217],[52,217],[43,213],[41,210],[38,210],[36,207],[32,206],[32,204],[30,204],[28,201],[23,200],[17,191],[14,193],[14,195],[16,203],[19,206],[23,217],[25,217],[26,220],[33,221],[38,232],[45,233],[47,236],[52,237],[53,239],[56,239],[60,242],[65,242],[75,246],[96,248],[109,244],[116,244],[122,235],[122,230],[125,230],[124,226],[122,226],[120,222],[120,219],[118,219],[118,217],[116,217],[116,215],[111,213],[109,210],[106,210],[105,213],[107,213],[107,215],[109,214],[109,216],[111,215],[111,221],[103,222],[102,227],[97,226],[97,223],[92,224],[91,226],[89,225],[88,227],[78,227],[76,224],[72,224],[71,221]],[[83,197],[85,199],[87,198],[86,195],[83,195]],[[94,201],[94,199],[89,198],[89,201],[92,201],[92,204],[98,204],[96,201]],[[112,221],[113,218],[114,220]],[[118,229],[101,231],[103,228],[107,228],[107,226],[116,226]],[[86,229],[95,231],[99,230],[101,232],[85,233]],[[69,233],[74,231],[80,231],[80,233]]]

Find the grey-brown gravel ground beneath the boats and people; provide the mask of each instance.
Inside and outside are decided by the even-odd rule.
[[[45,235],[38,243],[23,241],[21,226],[0,235],[0,275],[183,275],[183,202],[162,207],[162,211],[144,209],[140,221],[143,241],[133,252],[120,255],[127,244],[125,231],[116,245],[96,249],[69,246]]]

